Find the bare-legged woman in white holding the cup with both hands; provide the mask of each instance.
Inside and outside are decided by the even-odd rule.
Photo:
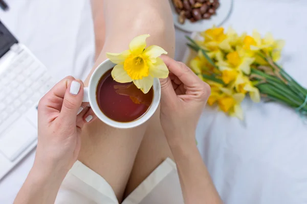
[[[183,63],[171,59],[175,38],[169,2],[94,0],[92,10],[96,53],[100,53],[95,67],[105,60],[106,52],[122,52],[141,34],[150,34],[148,45],[168,52],[169,57],[161,57],[171,72],[161,80],[161,108],[135,129],[113,129],[94,120],[92,110],[81,103],[83,83],[72,77],[63,79],[40,101],[35,163],[15,203],[53,203],[56,199],[57,203],[124,200],[149,204],[146,196],[160,188],[158,183],[165,181],[162,166],[172,160],[177,164],[183,198],[164,203],[183,203],[183,199],[193,204],[220,203],[194,137],[210,90]],[[176,165],[170,166],[177,172]],[[158,181],[158,177],[159,182],[148,188],[146,180]]]

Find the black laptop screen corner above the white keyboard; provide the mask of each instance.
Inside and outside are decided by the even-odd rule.
[[[4,56],[4,54],[8,52],[10,47],[17,42],[18,42],[17,39],[0,21],[0,58]]]

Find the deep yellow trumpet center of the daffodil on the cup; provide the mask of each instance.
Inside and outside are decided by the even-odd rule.
[[[124,70],[133,80],[141,80],[149,75],[147,61],[142,55],[130,55],[127,57],[124,61]]]

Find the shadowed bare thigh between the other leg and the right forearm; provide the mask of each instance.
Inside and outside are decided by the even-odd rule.
[[[141,142],[124,197],[136,189],[167,157],[173,159],[160,124],[160,111],[150,119]]]

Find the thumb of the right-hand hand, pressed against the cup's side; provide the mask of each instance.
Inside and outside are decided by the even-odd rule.
[[[160,79],[161,84],[161,104],[172,104],[177,95],[169,77]]]

